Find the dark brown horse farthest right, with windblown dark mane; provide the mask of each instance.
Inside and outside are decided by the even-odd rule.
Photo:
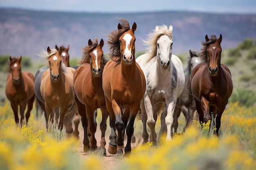
[[[233,90],[229,68],[220,63],[222,35],[216,38],[205,36],[198,54],[203,63],[198,64],[191,74],[191,91],[195,99],[200,122],[216,117],[216,135],[219,135],[220,119]]]

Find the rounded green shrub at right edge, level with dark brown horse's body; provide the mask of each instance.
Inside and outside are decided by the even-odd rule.
[[[233,103],[239,102],[246,107],[250,107],[253,106],[256,102],[256,93],[245,88],[240,88],[236,92],[232,93],[229,101]]]

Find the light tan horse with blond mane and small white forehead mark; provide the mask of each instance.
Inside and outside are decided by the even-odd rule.
[[[42,50],[39,53],[39,56],[45,58],[49,63],[49,68],[43,72],[41,77],[40,95],[44,101],[47,116],[46,125],[48,125],[48,121],[53,122],[54,114],[59,115],[58,128],[62,130],[63,124],[65,124],[67,134],[71,134],[73,132],[72,117],[76,107],[72,91],[75,69],[62,64],[61,52],[62,47],[57,51],[48,46],[47,51]],[[57,116],[55,118],[58,119]],[[73,135],[78,137],[77,132]]]

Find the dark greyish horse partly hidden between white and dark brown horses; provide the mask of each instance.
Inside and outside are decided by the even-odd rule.
[[[177,103],[175,106],[174,114],[173,114],[173,130],[177,132],[178,128],[178,118],[182,111],[185,119],[186,119],[186,126],[183,129],[183,132],[193,123],[193,115],[189,113],[189,106],[192,104],[194,97],[191,92],[191,73],[195,66],[200,64],[202,59],[198,56],[197,52],[189,50],[189,58],[188,58],[188,65],[184,69],[185,74],[185,86],[177,99]],[[196,113],[198,114],[198,113]]]

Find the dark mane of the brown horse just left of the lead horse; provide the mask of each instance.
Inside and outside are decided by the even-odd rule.
[[[78,62],[79,64],[90,63],[89,53],[92,52],[98,46],[98,39],[92,40],[92,45],[83,47],[82,59]],[[103,57],[103,65],[105,65],[108,60]]]

